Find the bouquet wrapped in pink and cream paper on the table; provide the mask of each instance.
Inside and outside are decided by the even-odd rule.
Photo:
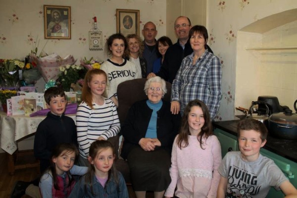
[[[60,74],[59,67],[67,64],[74,64],[76,60],[72,55],[67,55],[61,58],[58,54],[53,53],[45,57],[37,57],[31,54],[31,57],[37,62],[37,67],[46,82],[49,80],[56,80]]]

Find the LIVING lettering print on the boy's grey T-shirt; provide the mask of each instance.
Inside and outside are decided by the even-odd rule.
[[[230,166],[228,173],[228,183],[232,189],[245,189],[245,192],[250,195],[257,195],[261,186],[257,185],[257,176],[253,173],[248,173],[237,166]]]

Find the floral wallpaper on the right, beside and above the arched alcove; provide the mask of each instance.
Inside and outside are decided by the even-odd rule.
[[[207,0],[208,44],[220,58],[223,71],[216,120],[235,118],[237,32],[266,16],[294,8],[294,0]]]

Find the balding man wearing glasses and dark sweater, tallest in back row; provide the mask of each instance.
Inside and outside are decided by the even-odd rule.
[[[181,66],[183,58],[193,52],[190,42],[188,42],[189,31],[191,28],[191,21],[188,17],[177,17],[174,22],[175,33],[178,37],[177,43],[167,49],[160,71],[156,74],[148,74],[148,78],[157,75],[170,83],[173,82],[175,75]],[[206,48],[209,52],[213,53],[209,46],[206,45]]]

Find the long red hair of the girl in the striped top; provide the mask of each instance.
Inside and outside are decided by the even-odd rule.
[[[84,79],[84,85],[83,85],[83,92],[82,92],[82,100],[85,101],[88,106],[90,108],[94,108],[93,107],[93,103],[92,103],[92,93],[91,93],[91,88],[89,87],[88,83],[90,83],[92,81],[92,78],[94,75],[104,75],[105,76],[105,79],[106,79],[106,88],[105,88],[105,91],[103,93],[103,97],[107,97],[107,94],[106,94],[106,89],[107,89],[107,75],[106,73],[101,70],[101,69],[90,69],[87,74],[85,75],[85,79]]]

